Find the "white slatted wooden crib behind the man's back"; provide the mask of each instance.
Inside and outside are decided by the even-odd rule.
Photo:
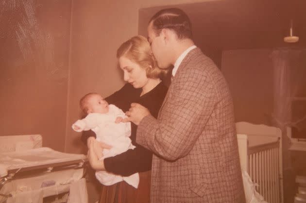
[[[236,123],[241,169],[268,203],[283,203],[282,133],[276,127]]]

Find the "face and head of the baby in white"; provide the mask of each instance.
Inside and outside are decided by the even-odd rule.
[[[107,113],[108,103],[100,95],[93,95],[88,99],[88,113]]]

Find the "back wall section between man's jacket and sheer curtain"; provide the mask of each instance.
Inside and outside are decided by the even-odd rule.
[[[222,52],[221,71],[234,100],[236,121],[272,123],[272,50],[231,50]]]

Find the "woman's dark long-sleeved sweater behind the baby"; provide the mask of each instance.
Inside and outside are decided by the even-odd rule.
[[[105,98],[105,100],[114,104],[123,112],[129,110],[132,102],[140,103],[148,108],[153,117],[157,118],[158,111],[166,96],[168,88],[162,83],[158,84],[150,92],[140,97],[141,89],[135,89],[132,85],[126,84],[119,91]],[[136,146],[134,150],[130,149],[126,152],[118,154],[114,157],[104,159],[104,167],[108,172],[114,174],[129,176],[136,172],[143,172],[151,169],[152,152],[143,148],[136,143],[137,126],[131,122],[132,144]],[[82,135],[82,141],[86,143],[89,136],[95,136],[92,131],[85,131]]]

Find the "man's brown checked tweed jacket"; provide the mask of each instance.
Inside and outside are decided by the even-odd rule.
[[[159,111],[136,142],[153,151],[151,203],[244,203],[233,102],[199,48],[179,66]]]

